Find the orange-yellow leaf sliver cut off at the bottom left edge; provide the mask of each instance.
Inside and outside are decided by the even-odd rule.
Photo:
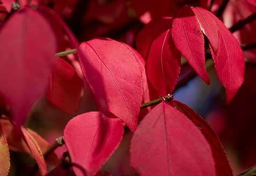
[[[10,153],[8,143],[0,124],[0,175],[6,176],[10,170]]]

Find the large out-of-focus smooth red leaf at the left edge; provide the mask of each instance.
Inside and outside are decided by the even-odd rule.
[[[25,7],[3,25],[0,46],[0,92],[19,127],[47,87],[56,41],[44,17]]]

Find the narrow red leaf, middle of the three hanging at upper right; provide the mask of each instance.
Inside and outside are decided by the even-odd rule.
[[[172,25],[171,34],[176,48],[204,82],[209,84],[205,69],[204,35],[190,6],[178,11]]]

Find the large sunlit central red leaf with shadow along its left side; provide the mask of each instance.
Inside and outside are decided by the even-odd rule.
[[[93,39],[81,43],[83,74],[103,113],[113,113],[134,131],[137,127],[143,86],[134,53],[121,42]]]

